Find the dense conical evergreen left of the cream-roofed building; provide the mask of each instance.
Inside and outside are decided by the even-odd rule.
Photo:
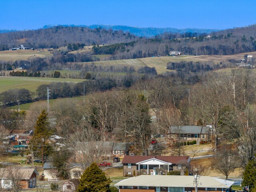
[[[110,192],[110,182],[98,165],[92,163],[81,176],[78,192]]]

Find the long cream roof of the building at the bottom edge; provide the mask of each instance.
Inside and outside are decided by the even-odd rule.
[[[201,176],[198,187],[230,188],[233,183],[224,179]],[[195,187],[194,176],[177,175],[140,175],[124,179],[115,184],[115,186]]]

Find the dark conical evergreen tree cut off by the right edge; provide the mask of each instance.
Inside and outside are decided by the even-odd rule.
[[[248,162],[242,178],[242,186],[254,186],[256,183],[256,160],[252,159]]]

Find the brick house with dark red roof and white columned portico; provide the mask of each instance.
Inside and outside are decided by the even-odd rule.
[[[166,174],[169,171],[181,173],[190,167],[189,156],[139,156],[125,155],[122,161],[124,176],[138,176],[142,174]],[[133,175],[135,172],[135,175]]]

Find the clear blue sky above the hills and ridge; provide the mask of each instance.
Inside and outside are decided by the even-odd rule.
[[[256,23],[256,0],[0,0],[0,29],[46,24],[225,29]]]

